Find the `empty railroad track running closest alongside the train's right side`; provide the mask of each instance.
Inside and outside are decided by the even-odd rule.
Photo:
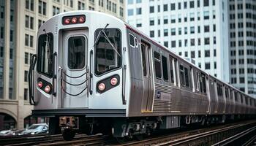
[[[138,142],[128,142],[124,145],[214,145],[228,137],[232,137],[246,129],[256,126],[256,120],[250,120],[213,128],[185,131],[162,137],[153,137]]]

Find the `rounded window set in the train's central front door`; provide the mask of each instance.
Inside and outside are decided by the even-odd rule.
[[[68,40],[67,62],[69,69],[83,69],[86,65],[86,39],[83,36]]]

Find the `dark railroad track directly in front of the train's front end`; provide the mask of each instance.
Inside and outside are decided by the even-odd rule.
[[[0,139],[0,145],[103,145],[104,139],[105,137],[102,135],[87,136],[85,134],[78,134],[72,141],[65,141],[62,136],[58,134],[34,137],[13,137],[13,139]]]

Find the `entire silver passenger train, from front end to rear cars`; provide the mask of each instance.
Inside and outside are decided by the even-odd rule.
[[[132,137],[255,115],[256,100],[102,12],[55,15],[37,34],[32,115],[50,134]]]

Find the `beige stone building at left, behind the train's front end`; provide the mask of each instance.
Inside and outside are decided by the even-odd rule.
[[[125,17],[123,0],[0,1],[0,130],[37,122],[30,116],[33,106],[29,104],[27,77],[37,30],[53,15],[79,9]]]

